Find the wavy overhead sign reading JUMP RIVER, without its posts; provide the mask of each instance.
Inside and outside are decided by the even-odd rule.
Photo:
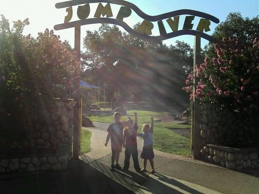
[[[89,3],[98,3],[98,7],[95,11],[94,18],[88,18],[90,15],[90,5]],[[105,6],[102,4],[107,3]],[[86,4],[85,4],[86,3]],[[110,3],[122,5],[119,10],[118,15],[116,18],[113,17],[112,10],[110,7]],[[80,5],[85,4],[85,5]],[[73,16],[73,9],[72,6],[77,7],[77,21],[70,21]],[[65,16],[64,23],[57,24],[54,26],[55,30],[62,30],[67,28],[76,28],[76,26],[82,26],[87,24],[96,24],[96,23],[109,23],[121,26],[125,31],[129,32],[130,34],[141,38],[143,40],[152,41],[152,42],[159,42],[162,40],[166,40],[172,37],[189,34],[189,35],[199,35],[200,37],[207,39],[211,42],[215,42],[215,38],[212,36],[204,33],[210,31],[210,24],[211,21],[214,23],[219,23],[219,19],[195,10],[189,9],[182,9],[177,11],[168,12],[165,14],[157,15],[157,16],[149,16],[142,12],[136,5],[130,3],[125,0],[70,0],[65,2],[56,3],[56,8],[66,8],[67,16]],[[140,24],[137,31],[133,30],[126,22],[123,21],[123,18],[129,17],[134,10],[138,16],[143,18],[143,22]],[[179,30],[179,19],[181,15],[189,15],[185,16],[183,28]],[[103,17],[101,17],[103,16]],[[106,16],[106,17],[105,17]],[[195,30],[193,30],[192,21],[194,20],[195,16],[201,17],[198,23],[198,26]],[[172,18],[173,17],[173,18]],[[166,19],[169,27],[171,28],[172,32],[166,32],[163,19]],[[160,35],[158,36],[151,36],[152,29],[154,27],[152,22],[157,22]]]

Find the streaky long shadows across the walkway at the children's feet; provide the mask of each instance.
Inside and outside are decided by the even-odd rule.
[[[158,173],[149,176],[149,173],[137,173],[133,167],[130,167],[128,171],[124,172],[118,170],[111,171],[109,168],[110,162],[102,159],[92,160],[85,155],[81,157],[89,165],[137,194],[183,194],[187,192],[191,194],[203,194],[175,179]]]

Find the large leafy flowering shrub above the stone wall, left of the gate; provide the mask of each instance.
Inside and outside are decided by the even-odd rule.
[[[37,38],[22,34],[28,18],[0,20],[0,130],[35,129],[41,112],[51,110],[54,98],[73,92],[72,79],[80,74],[76,52],[46,29]]]

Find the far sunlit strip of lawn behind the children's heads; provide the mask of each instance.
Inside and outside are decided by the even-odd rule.
[[[127,114],[130,114],[132,119],[134,120],[134,113],[137,113],[138,123],[150,123],[150,117],[154,116],[154,121],[158,120],[155,115],[168,115],[170,113],[167,112],[153,112],[153,111],[139,111],[139,110],[131,110],[127,111]],[[113,115],[104,115],[104,116],[88,116],[93,122],[100,123],[112,123]],[[127,116],[122,116],[122,121],[126,121]]]

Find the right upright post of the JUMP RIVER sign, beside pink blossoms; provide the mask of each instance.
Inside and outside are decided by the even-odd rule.
[[[196,86],[198,85],[198,77],[196,77],[196,65],[201,64],[201,56],[200,56],[200,35],[196,34],[194,38],[194,57],[193,57],[193,71],[194,71],[194,78],[193,78],[193,92],[196,91]],[[192,103],[192,149],[193,149],[193,158],[199,159],[200,152],[199,152],[199,144],[200,144],[200,133],[199,133],[199,125],[200,125],[200,103],[199,99],[193,96],[193,103]]]

